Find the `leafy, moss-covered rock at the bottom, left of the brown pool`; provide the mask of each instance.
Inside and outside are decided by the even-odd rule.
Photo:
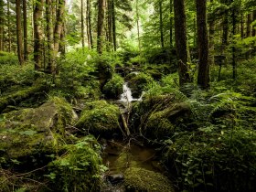
[[[66,148],[68,153],[49,165],[48,187],[53,191],[99,191],[104,166],[97,141],[87,136]]]

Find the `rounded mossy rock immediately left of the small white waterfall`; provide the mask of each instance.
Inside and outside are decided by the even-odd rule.
[[[114,74],[112,79],[109,80],[103,87],[103,93],[108,99],[118,99],[123,92],[124,80],[121,76]]]

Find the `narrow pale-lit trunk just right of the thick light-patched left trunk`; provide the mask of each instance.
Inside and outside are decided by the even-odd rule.
[[[52,23],[52,11],[51,11],[52,0],[46,0],[46,18],[47,18],[47,56],[48,56],[48,67],[47,70],[49,73],[54,72],[53,65],[53,23]]]

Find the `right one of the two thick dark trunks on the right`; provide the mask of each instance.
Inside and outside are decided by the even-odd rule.
[[[207,0],[197,0],[197,46],[199,67],[197,84],[202,89],[209,87]]]

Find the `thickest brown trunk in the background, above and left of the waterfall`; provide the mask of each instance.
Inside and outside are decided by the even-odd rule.
[[[104,25],[104,0],[98,0],[97,52],[102,53],[102,31]]]

